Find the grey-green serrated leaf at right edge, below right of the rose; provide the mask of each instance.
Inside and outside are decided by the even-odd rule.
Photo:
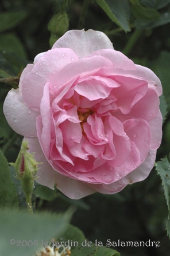
[[[165,199],[168,206],[168,221],[167,221],[167,234],[170,238],[170,164],[165,157],[157,163],[156,170],[161,176],[162,184],[164,187]]]

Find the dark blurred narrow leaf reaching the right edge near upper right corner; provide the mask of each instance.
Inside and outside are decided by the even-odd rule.
[[[138,29],[150,29],[150,28],[156,28],[165,24],[168,24],[170,22],[170,12],[160,13],[160,18],[157,21],[154,22],[148,22],[145,20],[136,20],[134,24]]]

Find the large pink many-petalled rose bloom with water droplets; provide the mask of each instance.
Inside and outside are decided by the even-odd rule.
[[[68,31],[22,72],[4,113],[39,165],[37,182],[82,198],[144,180],[162,136],[159,78],[102,32]]]

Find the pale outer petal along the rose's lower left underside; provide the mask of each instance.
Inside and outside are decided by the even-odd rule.
[[[95,193],[95,190],[88,187],[86,183],[80,182],[79,180],[70,179],[67,176],[60,175],[57,171],[53,170],[51,165],[45,159],[37,138],[25,139],[28,140],[29,152],[35,152],[35,159],[37,162],[42,163],[38,165],[40,168],[37,173],[38,179],[36,179],[38,183],[43,186],[50,187],[51,189],[57,185],[57,189],[72,199],[79,199]]]

